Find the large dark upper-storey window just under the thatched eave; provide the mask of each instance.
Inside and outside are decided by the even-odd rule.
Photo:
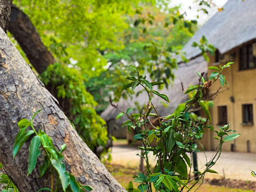
[[[256,57],[254,54],[253,47],[255,47],[255,43],[247,44],[244,47],[241,47],[239,50],[240,54],[240,66],[239,70],[247,70],[251,68],[256,68]]]

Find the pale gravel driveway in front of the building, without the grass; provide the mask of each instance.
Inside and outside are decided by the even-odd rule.
[[[140,153],[137,147],[127,145],[116,145],[112,148],[112,162],[122,164],[124,166],[138,166],[140,157],[136,154]],[[206,164],[206,157],[209,160],[213,151],[198,153],[198,167],[202,169]],[[153,156],[150,157],[151,162],[154,162]],[[220,159],[214,167],[218,174],[207,174],[206,178],[230,178],[244,181],[256,181],[252,177],[250,170],[256,172],[256,154],[255,153],[234,153],[222,152]]]

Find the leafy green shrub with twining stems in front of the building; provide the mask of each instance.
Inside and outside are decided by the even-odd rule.
[[[148,94],[148,106],[142,114],[129,114],[132,110],[132,108],[129,108],[126,112],[121,111],[117,118],[126,116],[129,120],[124,122],[123,126],[127,126],[128,129],[135,129],[137,127],[141,129],[141,132],[134,136],[134,140],[142,142],[142,146],[139,148],[142,150],[141,157],[145,159],[147,170],[146,174],[138,173],[138,175],[134,176],[134,182],[140,184],[138,185],[138,189],[135,189],[132,182],[130,182],[127,189],[128,191],[153,191],[153,188],[155,188],[156,191],[183,191],[185,188],[191,190],[198,182],[203,182],[204,175],[207,172],[217,173],[215,170],[212,170],[211,167],[214,166],[215,162],[220,157],[223,143],[234,140],[239,137],[240,134],[233,134],[232,132],[234,131],[230,130],[230,124],[219,127],[219,130],[214,130],[212,125],[207,124],[208,121],[211,121],[211,118],[209,110],[206,105],[204,105],[204,102],[202,102],[202,98],[205,90],[209,89],[218,79],[220,80],[221,86],[223,86],[224,83],[227,84],[222,71],[230,67],[231,64],[232,63],[227,63],[220,67],[210,66],[210,69],[214,70],[214,72],[210,74],[208,81],[204,80],[204,73],[199,74],[199,84],[190,87],[185,92],[185,94],[188,94],[196,90],[193,97],[185,103],[178,105],[174,113],[165,118],[160,118],[156,108],[154,108],[151,102],[153,95],[157,95],[169,102],[169,98],[167,98],[166,95],[153,90],[153,86],[161,82],[147,81],[145,77],[140,76],[138,70],[134,68],[134,70],[137,71],[137,75],[127,78],[131,82],[124,85],[122,90],[129,89],[129,87],[135,89],[137,86],[142,86]],[[195,121],[194,118],[191,117],[189,110],[195,103],[201,106],[207,119]],[[118,106],[113,105],[113,103],[112,106],[118,108]],[[151,111],[154,111],[154,113],[151,113]],[[151,124],[150,118],[152,116],[158,118],[159,126],[154,127],[153,124]],[[192,163],[188,157],[188,153],[199,151],[196,146],[196,140],[202,138],[204,129],[207,128],[217,135],[215,137],[219,142],[217,152],[213,158],[206,163],[204,171],[196,172],[198,174],[198,180],[188,186],[188,183],[195,180],[195,178],[191,178],[190,176]],[[156,166],[152,167],[150,165],[148,153],[153,153],[153,156],[156,157]]]

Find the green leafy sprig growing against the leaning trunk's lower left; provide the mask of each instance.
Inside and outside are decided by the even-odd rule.
[[[36,116],[37,113],[39,113],[38,110],[36,113],[33,114],[31,121],[28,119],[21,119],[18,122],[18,127],[20,127],[20,132],[15,137],[15,143],[14,143],[14,150],[13,150],[13,155],[14,158],[20,148],[22,148],[23,144],[33,136],[33,138],[30,141],[30,154],[28,156],[28,175],[31,174],[31,172],[34,170],[36,167],[38,157],[41,154],[40,148],[44,149],[44,162],[40,166],[40,177],[42,177],[45,173],[46,170],[50,167],[50,172],[51,172],[51,179],[52,179],[52,184],[51,188],[42,188],[41,190],[48,190],[48,191],[57,191],[58,189],[58,184],[56,185],[56,190],[54,190],[54,169],[58,174],[57,182],[62,183],[62,190],[63,191],[91,191],[93,190],[90,186],[82,186],[79,182],[76,181],[76,178],[68,173],[65,168],[65,164],[62,161],[63,160],[63,155],[62,151],[65,150],[66,145],[61,146],[61,150],[57,151],[57,149],[54,147],[52,143],[52,139],[46,135],[45,132],[42,130],[39,130],[39,132],[36,132],[33,126],[33,119],[34,116]],[[31,127],[32,130],[26,130],[28,127]],[[41,191],[39,190],[39,191]]]

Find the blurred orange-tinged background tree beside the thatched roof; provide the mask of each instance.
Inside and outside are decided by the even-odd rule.
[[[138,66],[140,74],[163,81],[167,87],[174,79],[172,69],[177,68],[177,58],[174,55],[180,54],[178,50],[196,29],[196,22],[185,20],[178,9],[144,2],[143,6],[135,8],[134,15],[126,15],[130,27],[122,36],[125,47],[118,51],[105,50],[103,57],[108,60],[108,70],[94,79],[100,81],[107,76],[105,89],[108,91],[100,85],[98,89],[103,89],[109,96],[114,95],[114,100],[132,95],[130,90],[120,92],[126,81],[124,77],[132,72],[129,65]],[[185,23],[189,24],[185,26]]]

